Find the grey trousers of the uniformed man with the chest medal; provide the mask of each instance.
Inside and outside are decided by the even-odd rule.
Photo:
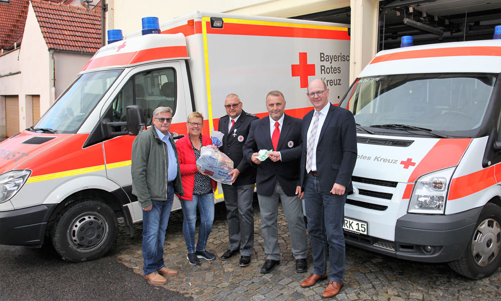
[[[254,251],[254,184],[221,184],[226,204],[230,250],[240,250],[241,256],[250,256]]]

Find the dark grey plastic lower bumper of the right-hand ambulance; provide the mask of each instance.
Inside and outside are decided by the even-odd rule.
[[[345,239],[351,245],[397,258],[454,261],[463,254],[481,211],[482,207],[450,215],[408,213],[396,222],[395,241],[346,231]]]

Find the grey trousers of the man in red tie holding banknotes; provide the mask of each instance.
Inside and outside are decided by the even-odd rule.
[[[278,242],[278,206],[279,199],[284,207],[285,218],[291,235],[291,249],[296,259],[306,258],[308,241],[306,239],[305,220],[303,219],[303,202],[297,196],[287,196],[279,182],[272,196],[258,194],[261,209],[261,230],[265,241],[267,259],[280,260]]]

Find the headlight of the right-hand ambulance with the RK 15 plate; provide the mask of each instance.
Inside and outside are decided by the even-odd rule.
[[[414,184],[407,212],[443,214],[447,186],[454,168],[446,168],[418,178]]]

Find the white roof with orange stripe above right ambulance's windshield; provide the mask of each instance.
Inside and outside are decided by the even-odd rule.
[[[455,72],[500,73],[501,40],[429,44],[381,51],[359,77]]]

